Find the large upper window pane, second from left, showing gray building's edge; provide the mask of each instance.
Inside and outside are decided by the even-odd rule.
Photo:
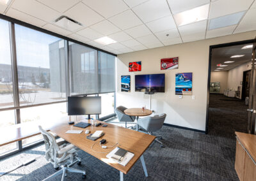
[[[15,25],[20,106],[66,99],[64,40]]]

